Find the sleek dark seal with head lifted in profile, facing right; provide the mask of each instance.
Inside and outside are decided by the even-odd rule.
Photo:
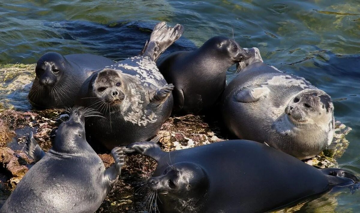
[[[207,40],[194,51],[167,55],[158,67],[168,83],[175,86],[174,110],[198,114],[212,108],[226,86],[226,71],[250,58],[247,50],[224,36]]]

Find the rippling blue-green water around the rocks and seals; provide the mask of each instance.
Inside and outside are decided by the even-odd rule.
[[[121,60],[139,53],[158,21],[185,27],[181,41],[169,51],[191,50],[216,35],[231,37],[233,29],[235,40],[258,47],[264,62],[330,94],[336,119],[353,128],[338,163],[360,174],[359,0],[3,1],[0,64],[33,64],[47,51]],[[233,72],[231,68],[228,80]],[[19,110],[30,109],[14,93],[1,98],[14,99]],[[343,192],[336,199],[325,205],[337,203],[336,212],[360,211],[359,192]]]

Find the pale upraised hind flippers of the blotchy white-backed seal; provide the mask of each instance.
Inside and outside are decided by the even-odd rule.
[[[166,27],[166,22],[156,24],[149,42],[147,41],[140,55],[149,56],[156,62],[166,48],[183,35],[183,32],[184,27],[180,24],[176,24],[175,27]]]

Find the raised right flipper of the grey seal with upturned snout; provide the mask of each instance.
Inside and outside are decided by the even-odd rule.
[[[115,163],[110,168],[106,169],[104,173],[105,180],[108,180],[110,185],[117,181],[121,175],[121,168],[124,165],[124,153],[120,147],[112,149],[111,155],[114,158]]]

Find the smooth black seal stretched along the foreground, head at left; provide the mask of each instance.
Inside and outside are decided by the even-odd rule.
[[[160,212],[268,212],[357,178],[316,169],[264,144],[230,140],[165,152],[152,142],[127,146],[157,161],[145,184]],[[347,173],[347,177],[329,174]]]

